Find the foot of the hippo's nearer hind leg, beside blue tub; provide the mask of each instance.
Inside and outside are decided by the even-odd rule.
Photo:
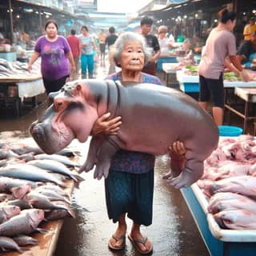
[[[202,176],[202,175],[201,175]],[[183,170],[178,177],[170,179],[170,185],[174,186],[176,189],[181,189],[182,187],[187,187],[196,182],[199,178],[201,178],[196,172],[191,170]]]

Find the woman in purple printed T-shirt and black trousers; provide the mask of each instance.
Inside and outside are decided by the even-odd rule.
[[[58,91],[66,83],[70,76],[70,70],[74,71],[74,58],[66,38],[58,35],[58,25],[54,20],[46,22],[46,35],[38,38],[34,47],[34,53],[30,58],[28,70],[32,70],[32,64],[41,57],[41,72],[46,93]]]

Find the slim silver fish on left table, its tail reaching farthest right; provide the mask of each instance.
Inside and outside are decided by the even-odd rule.
[[[42,159],[42,160],[32,160],[27,162],[27,164],[36,166],[41,169],[50,170],[51,172],[54,172],[54,173],[64,174],[69,178],[73,179],[74,182],[84,181],[84,178],[82,178],[78,174],[74,174],[62,162],[49,160],[49,159]]]

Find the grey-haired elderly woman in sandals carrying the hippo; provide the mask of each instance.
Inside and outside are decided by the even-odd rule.
[[[113,48],[114,62],[121,71],[107,79],[121,82],[153,83],[162,82],[150,74],[142,73],[145,62],[150,58],[146,41],[140,34],[121,34]],[[94,124],[93,134],[116,134],[120,117],[108,120],[109,113]],[[176,142],[174,150],[183,154],[182,142]],[[154,155],[119,150],[111,161],[110,174],[105,180],[106,206],[109,218],[118,222],[118,228],[109,241],[113,250],[121,250],[126,245],[126,214],[133,220],[128,238],[141,254],[148,254],[153,246],[141,233],[140,226],[152,223],[154,191]]]

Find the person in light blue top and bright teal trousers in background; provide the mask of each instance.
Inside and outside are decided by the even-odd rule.
[[[94,78],[94,50],[97,50],[97,47],[94,43],[94,38],[89,34],[87,26],[82,26],[81,32],[82,34],[79,35],[79,40],[81,49],[82,79],[87,78],[87,71],[88,78]]]

